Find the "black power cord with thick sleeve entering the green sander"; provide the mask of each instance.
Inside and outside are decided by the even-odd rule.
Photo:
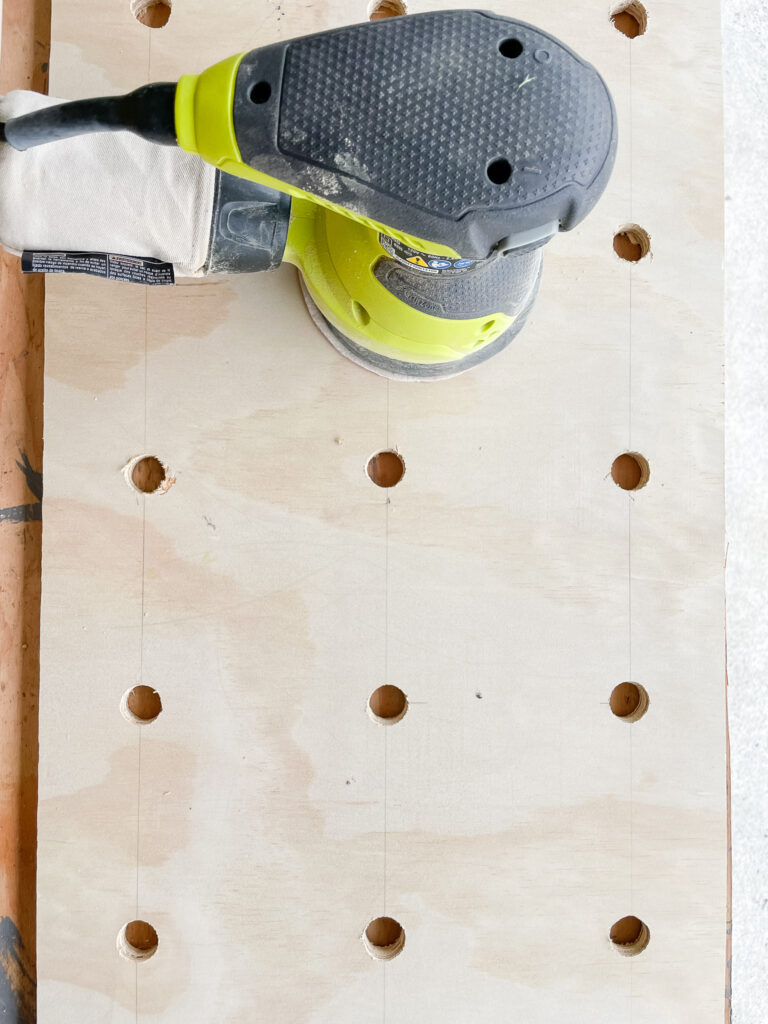
[[[175,82],[142,85],[124,96],[76,99],[6,121],[0,137],[14,150],[31,150],[76,135],[131,131],[161,145],[176,144]]]

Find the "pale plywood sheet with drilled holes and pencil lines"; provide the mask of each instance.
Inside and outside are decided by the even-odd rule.
[[[41,1024],[722,1019],[719,7],[659,0],[630,41],[592,0],[486,6],[591,59],[621,127],[502,356],[367,374],[290,267],[49,282]],[[127,0],[56,0],[51,92],[365,16],[174,0],[151,31]],[[384,449],[390,490],[366,474]],[[641,490],[611,479],[626,451]],[[162,496],[126,484],[143,453]],[[650,699],[634,724],[624,681]],[[163,701],[141,727],[139,683]],[[383,683],[410,701],[388,727]],[[628,914],[633,957],[608,939]],[[406,933],[387,963],[360,939],[380,915]],[[145,963],[116,950],[134,919]]]

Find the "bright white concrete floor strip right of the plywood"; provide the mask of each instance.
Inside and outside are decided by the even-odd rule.
[[[768,3],[723,0],[733,1021],[768,1020]]]

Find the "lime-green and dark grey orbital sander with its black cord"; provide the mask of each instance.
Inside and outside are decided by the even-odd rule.
[[[157,158],[166,206],[202,158],[215,170],[193,272],[293,263],[331,343],[409,380],[462,373],[509,345],[535,301],[545,244],[594,207],[616,146],[610,94],[591,65],[539,29],[476,10],[334,29],[178,83],[10,119],[0,106],[3,117],[0,139],[23,154],[95,132],[180,147]],[[122,138],[130,164],[131,136]],[[111,181],[118,208],[121,188],[126,203],[138,190],[129,177]],[[47,241],[25,253],[28,269],[83,269],[67,259],[82,252]],[[164,254],[142,255],[142,272],[124,280],[155,283],[146,273]]]

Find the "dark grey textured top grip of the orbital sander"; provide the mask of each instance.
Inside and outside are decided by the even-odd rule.
[[[546,32],[476,10],[252,50],[234,131],[250,166],[471,258],[577,224],[616,146],[613,104],[590,63]]]

